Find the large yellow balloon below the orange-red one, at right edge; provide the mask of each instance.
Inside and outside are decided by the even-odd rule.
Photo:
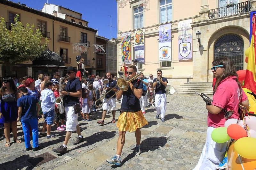
[[[256,138],[242,137],[235,143],[236,152],[246,159],[256,159]]]

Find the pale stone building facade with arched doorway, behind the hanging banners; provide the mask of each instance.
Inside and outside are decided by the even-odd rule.
[[[236,70],[246,69],[244,51],[249,47],[250,12],[255,0],[128,0],[117,1],[118,38],[117,70],[122,66],[122,34],[131,32],[131,58],[134,57],[134,34],[145,29],[145,63],[139,71],[156,77],[162,70],[172,86],[185,82],[211,82],[212,61],[229,57]],[[139,19],[138,19],[139,18]],[[178,24],[191,20],[192,61],[179,60]],[[159,61],[159,27],[171,24],[171,61]],[[196,33],[200,32],[200,46]]]

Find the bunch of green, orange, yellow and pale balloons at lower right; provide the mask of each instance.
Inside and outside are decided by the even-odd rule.
[[[242,108],[241,112],[243,109],[245,108]],[[240,156],[246,159],[256,159],[256,117],[245,116],[244,112],[242,117],[243,120],[228,119],[224,127],[214,129],[212,140],[225,143],[232,138],[236,140],[234,148]]]

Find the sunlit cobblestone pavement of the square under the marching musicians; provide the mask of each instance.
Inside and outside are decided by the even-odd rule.
[[[210,96],[212,97],[212,96]],[[116,119],[119,116],[120,103],[117,104]],[[127,132],[122,152],[122,166],[108,164],[105,160],[116,154],[118,128],[112,123],[112,114],[108,114],[105,125],[99,125],[102,110],[90,115],[91,122],[79,121],[84,142],[73,145],[77,134],[73,133],[68,143],[68,152],[52,152],[63,144],[66,132],[59,132],[52,126],[53,139],[39,136],[39,144],[44,148],[26,152],[24,142],[4,146],[5,139],[0,141],[0,169],[193,169],[200,157],[207,130],[207,114],[204,101],[197,95],[174,94],[167,96],[165,122],[156,120],[154,107],[149,107],[144,115],[148,125],[141,129],[141,150],[135,156],[135,133]],[[81,120],[81,117],[78,117]],[[42,127],[42,122],[40,123]],[[3,129],[1,129],[3,133]],[[18,136],[21,137],[21,126],[18,125]],[[24,139],[22,139],[24,141]],[[13,141],[11,135],[11,141]],[[31,141],[32,144],[32,141]],[[56,156],[49,162],[33,167],[28,158],[49,152]]]

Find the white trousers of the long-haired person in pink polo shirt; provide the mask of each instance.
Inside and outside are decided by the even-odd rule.
[[[222,162],[227,149],[228,142],[216,143],[212,140],[212,131],[215,128],[208,127],[206,142],[200,159],[194,170],[215,170]]]

